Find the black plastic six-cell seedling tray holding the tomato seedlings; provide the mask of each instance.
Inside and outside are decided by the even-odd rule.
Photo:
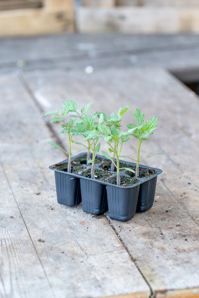
[[[72,159],[83,155],[86,154],[78,154]],[[97,157],[107,160],[104,156],[97,155]],[[58,164],[66,162],[68,159]],[[120,162],[132,166],[136,165],[122,160]],[[110,218],[126,221],[134,216],[136,210],[143,212],[152,207],[157,176],[162,173],[162,170],[157,168],[143,165],[139,167],[154,169],[156,174],[148,178],[136,178],[138,182],[127,187],[61,171],[56,169],[55,165],[49,168],[55,172],[57,200],[60,204],[73,206],[82,200],[84,211],[98,215],[108,208]]]

